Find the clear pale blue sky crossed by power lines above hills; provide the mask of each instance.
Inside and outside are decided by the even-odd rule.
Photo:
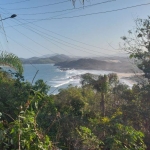
[[[150,0],[81,1],[1,0],[0,50],[21,58],[126,55],[121,37],[135,28],[136,18],[147,18]],[[5,19],[12,14],[17,17]]]

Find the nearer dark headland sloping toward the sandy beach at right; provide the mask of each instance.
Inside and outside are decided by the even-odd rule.
[[[55,66],[60,68],[69,69],[83,69],[83,70],[107,70],[115,72],[141,72],[137,67],[128,61],[128,59],[120,60],[96,60],[96,59],[78,59],[73,61],[65,61],[61,63],[56,63]]]

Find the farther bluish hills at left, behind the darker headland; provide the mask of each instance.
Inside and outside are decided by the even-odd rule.
[[[31,57],[28,59],[20,58],[23,64],[52,64],[64,61],[73,60],[69,56],[64,54],[60,55],[51,55],[51,57]]]

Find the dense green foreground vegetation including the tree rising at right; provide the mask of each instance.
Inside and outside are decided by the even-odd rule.
[[[146,20],[147,23],[148,20]],[[146,40],[142,21],[142,35]],[[137,31],[141,31],[139,26]],[[131,32],[130,32],[131,34]],[[149,78],[149,48],[131,49],[131,57]],[[139,43],[139,42],[137,42]],[[125,44],[125,45],[126,45]],[[144,43],[143,43],[144,44]],[[147,40],[145,48],[150,45]],[[133,48],[133,47],[132,47]],[[136,51],[137,50],[137,51]],[[149,150],[150,83],[131,88],[116,74],[82,76],[81,87],[57,95],[38,80],[25,82],[19,73],[0,72],[1,150]]]

